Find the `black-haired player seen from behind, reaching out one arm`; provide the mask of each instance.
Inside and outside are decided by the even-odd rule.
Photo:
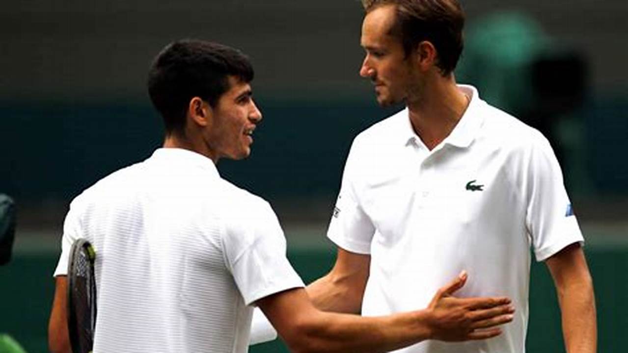
[[[77,238],[96,253],[94,352],[246,352],[252,305],[295,352],[384,352],[428,338],[499,335],[495,326],[512,320],[509,299],[451,297],[463,273],[423,310],[365,318],[312,305],[269,204],[215,166],[251,153],[262,119],[253,76],[242,53],[204,41],[177,41],[154,60],[148,91],[165,121],[163,148],[70,204],[50,349],[69,350],[65,275]]]

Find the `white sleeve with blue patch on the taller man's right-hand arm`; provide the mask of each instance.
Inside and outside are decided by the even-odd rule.
[[[583,243],[560,165],[542,136],[532,147],[526,177],[526,227],[536,260],[546,260],[572,243]]]

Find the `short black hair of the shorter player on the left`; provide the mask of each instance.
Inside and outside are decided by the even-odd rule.
[[[200,40],[175,41],[163,48],[148,73],[148,93],[163,117],[166,134],[183,132],[193,97],[215,107],[230,88],[229,76],[253,80],[251,61],[239,50]]]

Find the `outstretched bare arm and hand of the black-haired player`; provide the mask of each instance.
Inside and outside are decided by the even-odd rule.
[[[384,317],[318,310],[302,288],[269,295],[257,305],[293,352],[387,352],[425,339],[477,340],[501,333],[512,320],[507,298],[453,298],[461,274],[438,290],[428,308]],[[478,330],[482,329],[482,330]]]

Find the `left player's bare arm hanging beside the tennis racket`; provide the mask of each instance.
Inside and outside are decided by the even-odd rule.
[[[48,322],[48,349],[52,353],[72,353],[67,320],[67,277],[55,278],[55,298]]]

